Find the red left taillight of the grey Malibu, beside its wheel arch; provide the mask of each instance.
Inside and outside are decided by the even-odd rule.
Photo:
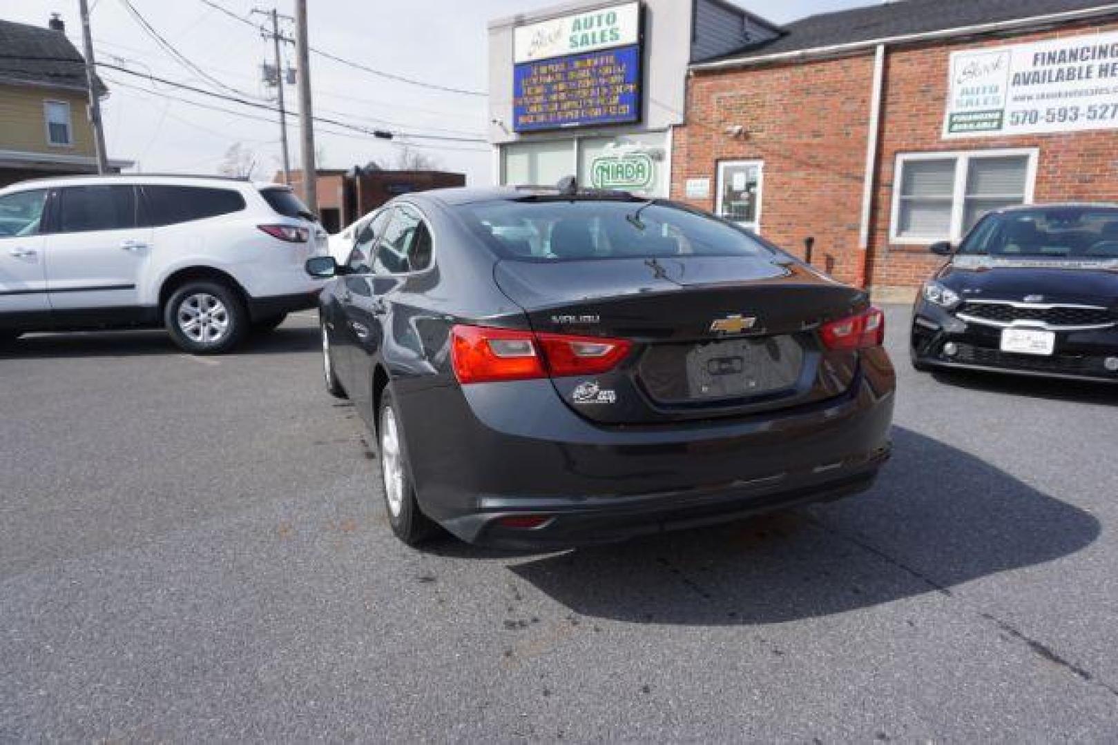
[[[629,342],[596,336],[455,326],[451,362],[459,383],[598,375],[625,359]]]

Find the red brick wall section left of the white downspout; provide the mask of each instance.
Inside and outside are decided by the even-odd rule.
[[[873,58],[700,74],[688,92],[688,124],[673,136],[672,197],[713,210],[718,162],[765,161],[761,233],[853,281]],[[745,136],[726,133],[745,127]],[[711,197],[686,200],[685,182],[711,180]],[[853,241],[851,236],[853,235]]]

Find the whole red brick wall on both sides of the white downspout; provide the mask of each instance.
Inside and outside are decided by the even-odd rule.
[[[840,60],[697,73],[688,89],[688,124],[674,135],[672,197],[712,210],[718,161],[764,160],[766,238],[803,256],[803,239],[814,236],[815,265],[845,281],[860,279],[864,260],[863,284],[918,285],[938,264],[926,247],[890,245],[897,153],[1036,147],[1038,202],[1118,201],[1118,131],[942,140],[950,54],[1116,29],[1118,22],[1079,23],[1058,31],[890,50],[868,252],[858,243],[872,50]],[[726,133],[735,125],[746,127],[745,137]],[[686,200],[690,178],[711,179],[711,198]]]

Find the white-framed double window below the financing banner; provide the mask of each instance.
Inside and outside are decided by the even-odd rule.
[[[897,156],[894,243],[959,241],[992,210],[1033,201],[1035,150]]]

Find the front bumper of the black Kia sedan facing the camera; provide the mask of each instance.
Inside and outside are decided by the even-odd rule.
[[[1118,371],[1106,367],[1108,357],[1118,357],[1118,328],[1057,332],[1052,356],[1005,353],[1001,342],[999,328],[966,323],[922,299],[913,311],[910,353],[919,365],[1118,383]],[[954,354],[948,354],[948,343],[955,345]]]

